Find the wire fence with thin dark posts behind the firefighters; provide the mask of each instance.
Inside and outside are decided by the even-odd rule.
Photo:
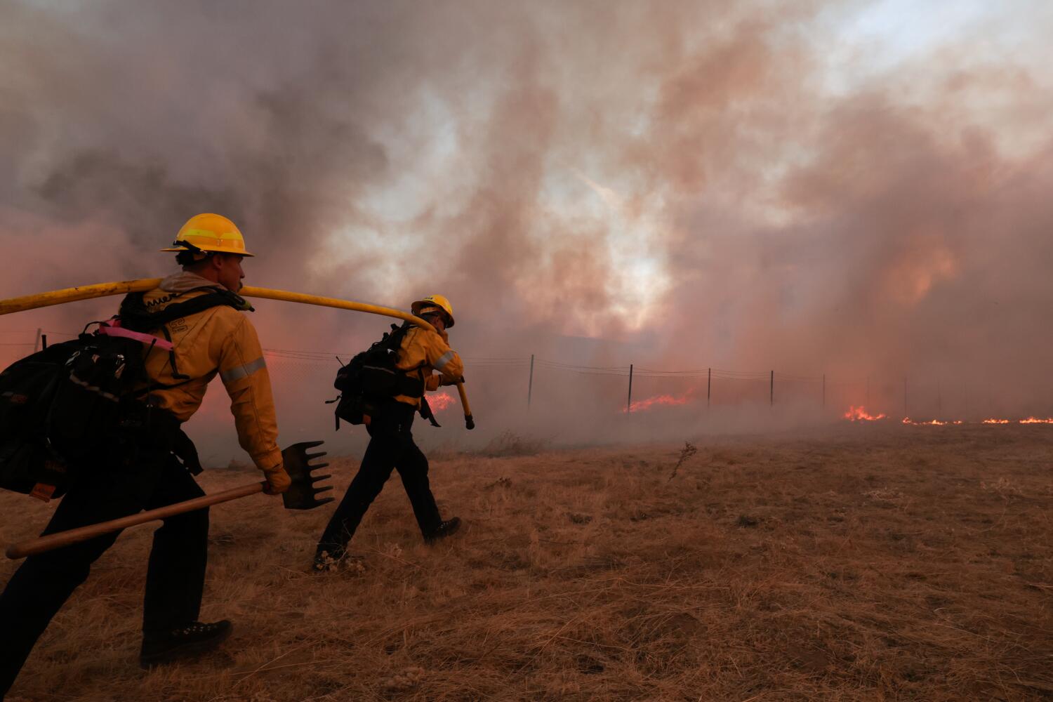
[[[76,338],[77,334],[44,329],[0,332],[0,361],[14,360],[48,343]],[[349,361],[346,350],[264,348],[276,396],[290,401],[335,395],[336,369]],[[843,414],[850,406],[897,416],[992,416],[997,406],[990,383],[941,387],[939,383],[888,377],[833,377],[774,369],[693,367],[656,368],[628,365],[587,365],[538,356],[462,357],[473,396],[509,406],[555,406],[577,403],[633,412],[654,405],[736,404],[813,406]],[[1053,388],[1050,406],[1053,414]],[[475,402],[473,402],[475,404]],[[298,405],[297,405],[298,406]],[[331,407],[323,407],[325,413]],[[1049,416],[1047,414],[1046,416]]]

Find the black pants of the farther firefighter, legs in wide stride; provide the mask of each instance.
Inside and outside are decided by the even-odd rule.
[[[414,413],[411,405],[392,401],[383,405],[365,427],[370,433],[370,445],[347,494],[322,533],[318,542],[319,554],[323,550],[336,557],[343,554],[365,510],[391,477],[392,469],[398,469],[402,478],[402,486],[410,497],[420,533],[426,537],[438,528],[442,518],[428,482],[428,458],[414,443],[411,432]]]

